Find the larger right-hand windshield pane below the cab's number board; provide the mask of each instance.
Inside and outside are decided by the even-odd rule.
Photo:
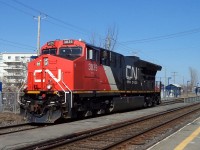
[[[59,56],[70,60],[80,57],[82,54],[81,47],[63,47],[59,50]]]

